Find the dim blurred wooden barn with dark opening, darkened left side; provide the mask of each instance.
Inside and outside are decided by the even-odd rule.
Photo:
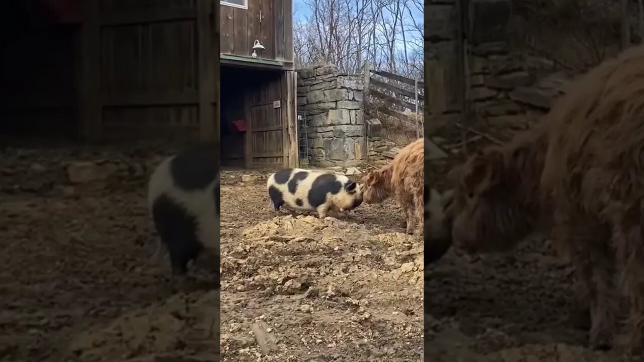
[[[218,12],[215,0],[3,1],[0,133],[217,138]]]

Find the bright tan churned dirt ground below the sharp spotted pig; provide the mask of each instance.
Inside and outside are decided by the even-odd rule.
[[[222,176],[223,360],[421,361],[422,242],[399,209],[276,215],[268,175]]]

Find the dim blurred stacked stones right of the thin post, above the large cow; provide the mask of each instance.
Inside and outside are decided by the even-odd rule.
[[[528,128],[562,93],[565,78],[551,73],[551,61],[510,48],[509,1],[471,4],[468,101],[477,126],[485,122],[504,129]]]

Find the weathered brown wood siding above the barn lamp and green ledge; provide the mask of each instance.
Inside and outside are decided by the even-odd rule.
[[[292,0],[248,0],[248,9],[220,8],[223,54],[250,57],[257,39],[266,48],[258,57],[293,61]]]

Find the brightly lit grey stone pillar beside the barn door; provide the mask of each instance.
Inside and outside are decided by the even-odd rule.
[[[365,161],[363,80],[332,64],[298,70],[298,110],[305,111],[312,166],[357,166]]]

